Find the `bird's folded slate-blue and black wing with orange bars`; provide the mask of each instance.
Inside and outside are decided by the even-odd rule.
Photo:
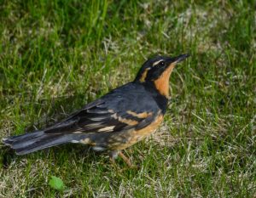
[[[44,133],[110,133],[136,129],[153,122],[158,111],[153,98],[130,85],[96,99]]]

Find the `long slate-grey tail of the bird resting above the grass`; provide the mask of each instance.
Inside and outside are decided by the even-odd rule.
[[[9,145],[17,155],[25,155],[51,146],[75,142],[79,138],[74,134],[47,134],[44,131],[36,131],[3,139],[3,144]]]

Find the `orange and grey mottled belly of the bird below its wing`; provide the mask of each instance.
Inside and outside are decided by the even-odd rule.
[[[163,121],[163,116],[158,116],[154,122],[149,124],[147,127],[144,127],[139,130],[130,130],[115,133],[113,136],[108,139],[108,149],[109,150],[125,150],[133,144],[145,139],[151,133],[159,127],[160,123]]]

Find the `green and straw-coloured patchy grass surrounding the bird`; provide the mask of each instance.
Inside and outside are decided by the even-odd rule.
[[[0,197],[256,196],[253,1],[0,4],[0,138],[60,120],[154,54],[191,54],[172,73],[165,123],[125,151],[138,170],[81,145],[15,156],[0,144]]]

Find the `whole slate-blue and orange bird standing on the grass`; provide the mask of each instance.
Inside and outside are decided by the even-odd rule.
[[[51,127],[3,139],[17,155],[74,143],[88,144],[93,150],[108,151],[111,161],[122,150],[145,139],[163,122],[168,105],[169,78],[177,63],[189,57],[155,56],[144,62],[131,82],[114,88],[99,99],[75,111]]]

